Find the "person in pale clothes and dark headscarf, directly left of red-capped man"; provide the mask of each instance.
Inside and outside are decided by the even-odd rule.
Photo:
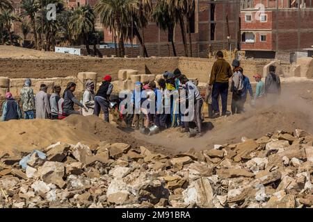
[[[87,110],[83,110],[83,116],[90,116],[93,114],[93,110],[95,109],[95,83],[93,80],[86,81],[86,89],[83,92],[83,105],[87,108]]]

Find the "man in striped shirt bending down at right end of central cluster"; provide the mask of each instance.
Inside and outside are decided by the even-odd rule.
[[[186,92],[186,97],[185,99],[181,99],[181,103],[185,102],[186,105],[188,105],[188,101],[193,101],[193,104],[192,104],[193,105],[193,120],[190,120],[190,121],[195,122],[195,125],[198,128],[197,137],[201,137],[202,136],[201,110],[202,110],[202,105],[203,105],[202,96],[200,95],[198,87],[191,80],[188,80],[188,78],[185,75],[179,76],[179,81],[180,83],[182,83],[182,85],[185,86],[184,88]],[[190,113],[188,115],[190,115]],[[185,130],[187,132],[189,131],[189,121],[184,121],[184,123],[185,123]]]

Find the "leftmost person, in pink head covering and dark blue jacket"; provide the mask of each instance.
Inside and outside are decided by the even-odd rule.
[[[15,101],[10,92],[6,93],[6,101],[2,105],[1,121],[9,121],[10,119],[22,119],[22,111],[19,103]]]

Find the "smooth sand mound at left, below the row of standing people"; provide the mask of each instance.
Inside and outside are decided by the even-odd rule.
[[[62,121],[49,119],[6,121],[0,123],[0,131],[0,154],[15,151],[30,152],[35,148],[41,150],[56,142],[69,144],[82,142],[88,145],[101,141],[125,142],[133,147],[146,146],[154,151],[159,148],[134,139],[93,115],[90,117],[72,115]]]

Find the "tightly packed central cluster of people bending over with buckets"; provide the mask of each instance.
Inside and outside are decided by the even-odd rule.
[[[184,96],[182,91],[185,92]],[[134,126],[136,130],[150,126],[157,126],[160,130],[181,127],[182,132],[189,132],[190,123],[193,122],[193,128],[197,130],[195,136],[202,135],[202,96],[195,83],[178,68],[173,72],[165,71],[157,84],[154,81],[136,82],[131,95],[128,103],[131,106],[130,112],[124,115],[127,126]],[[189,113],[182,110],[181,103],[188,104],[188,101],[194,103],[193,115],[189,121],[184,121]]]

